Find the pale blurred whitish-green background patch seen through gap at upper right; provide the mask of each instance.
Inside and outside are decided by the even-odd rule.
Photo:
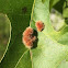
[[[61,30],[63,27],[66,26],[66,23],[65,23],[65,19],[63,18],[63,15],[56,11],[55,9],[52,9],[52,12],[50,12],[50,20],[52,20],[52,24],[54,26],[54,29],[56,31],[59,31]]]

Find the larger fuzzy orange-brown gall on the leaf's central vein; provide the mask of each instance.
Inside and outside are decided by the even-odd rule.
[[[27,48],[32,48],[33,47],[33,43],[36,39],[36,36],[33,36],[33,29],[32,27],[26,27],[26,30],[23,32],[23,43],[25,45],[25,47]]]

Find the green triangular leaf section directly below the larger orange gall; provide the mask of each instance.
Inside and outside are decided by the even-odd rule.
[[[32,68],[31,55],[29,49],[22,55],[15,68]]]

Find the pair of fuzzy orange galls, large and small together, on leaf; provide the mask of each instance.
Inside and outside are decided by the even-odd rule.
[[[35,26],[37,29],[37,32],[42,32],[44,29],[44,23],[42,21],[37,21],[35,23]],[[36,39],[36,36],[33,35],[34,30],[32,27],[26,27],[26,30],[23,32],[23,44],[25,45],[25,47],[27,48],[32,48],[33,47],[33,43]]]

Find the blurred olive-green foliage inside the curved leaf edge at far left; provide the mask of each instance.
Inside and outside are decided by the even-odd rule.
[[[5,14],[0,13],[0,58],[5,50],[10,35],[10,22]]]

